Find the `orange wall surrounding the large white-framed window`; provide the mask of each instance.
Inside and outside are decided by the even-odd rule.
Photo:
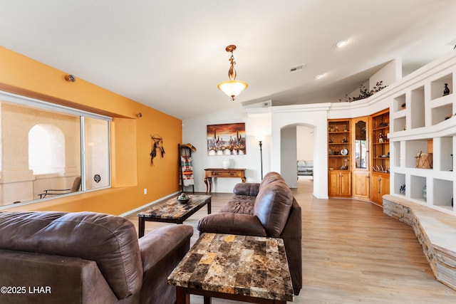
[[[8,211],[96,211],[122,214],[179,190],[177,145],[182,121],[0,46],[0,90],[113,117],[111,189],[14,206]],[[77,75],[76,75],[77,77]],[[142,117],[137,114],[141,112]],[[150,135],[163,138],[165,156],[150,162]],[[147,188],[147,194],[143,194]]]

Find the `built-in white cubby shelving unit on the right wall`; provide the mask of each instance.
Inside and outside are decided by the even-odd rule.
[[[400,80],[390,104],[390,194],[456,215],[456,52]],[[445,83],[450,93],[444,95]],[[417,153],[432,153],[430,169]],[[403,187],[405,185],[405,192]],[[425,190],[423,190],[425,189]]]

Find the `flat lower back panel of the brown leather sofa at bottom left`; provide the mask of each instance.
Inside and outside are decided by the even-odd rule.
[[[95,261],[0,249],[0,269],[1,284],[18,291],[1,293],[0,303],[118,301]]]

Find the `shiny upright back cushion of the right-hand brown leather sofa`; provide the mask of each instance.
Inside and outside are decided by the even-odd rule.
[[[279,237],[288,219],[293,193],[283,179],[261,187],[254,204],[258,217],[269,236]]]

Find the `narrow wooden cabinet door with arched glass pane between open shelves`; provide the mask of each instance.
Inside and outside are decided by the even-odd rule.
[[[369,117],[352,120],[353,198],[368,201],[370,197]]]

